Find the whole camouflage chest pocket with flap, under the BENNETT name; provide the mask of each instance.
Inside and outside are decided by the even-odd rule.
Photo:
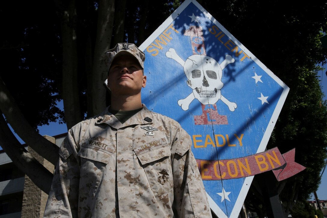
[[[102,180],[102,174],[112,156],[112,149],[99,149],[82,144],[78,152],[80,156],[80,195],[95,197]]]

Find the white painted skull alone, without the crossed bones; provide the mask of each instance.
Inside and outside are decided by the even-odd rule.
[[[204,55],[192,55],[184,64],[187,85],[202,104],[215,104],[221,98],[222,69],[215,59]]]

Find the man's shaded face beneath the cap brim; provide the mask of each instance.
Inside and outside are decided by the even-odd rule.
[[[123,55],[114,59],[108,74],[108,87],[113,95],[135,95],[146,86],[143,69],[133,56]]]

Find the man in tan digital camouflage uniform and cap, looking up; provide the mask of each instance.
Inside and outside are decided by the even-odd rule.
[[[190,136],[141,103],[144,53],[106,55],[111,106],[68,131],[44,217],[211,217]]]

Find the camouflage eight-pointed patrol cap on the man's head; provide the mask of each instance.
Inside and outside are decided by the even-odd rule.
[[[108,69],[110,69],[113,60],[122,55],[132,55],[144,69],[145,54],[132,43],[118,43],[114,48],[106,51],[105,54],[107,56]]]

